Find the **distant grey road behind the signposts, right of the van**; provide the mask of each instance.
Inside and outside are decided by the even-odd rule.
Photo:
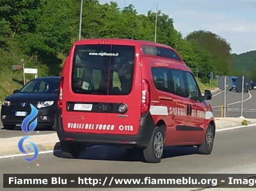
[[[228,113],[227,117],[241,116],[241,96],[242,93],[236,91],[227,91]],[[252,90],[250,93],[244,93],[243,98],[243,116],[244,118],[256,118],[256,91]],[[224,93],[220,93],[209,100],[212,105],[212,110],[215,117],[220,117],[220,105],[224,104]]]

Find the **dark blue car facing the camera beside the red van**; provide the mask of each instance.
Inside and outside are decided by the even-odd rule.
[[[56,130],[55,115],[60,77],[33,79],[22,89],[5,98],[1,108],[1,121],[5,129],[12,130],[31,112],[30,104],[38,110],[38,125]]]

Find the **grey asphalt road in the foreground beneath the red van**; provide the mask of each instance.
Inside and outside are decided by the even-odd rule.
[[[34,162],[26,162],[22,157],[0,158],[1,174],[204,174],[204,178],[216,173],[256,172],[255,149],[256,126],[225,130],[216,133],[214,149],[211,155],[198,155],[195,148],[168,148],[159,164],[146,164],[140,161],[139,155],[132,155],[122,148],[95,147],[88,148],[79,159],[61,158],[60,152],[40,154]],[[38,166],[36,165],[38,164]],[[207,175],[206,175],[207,174]],[[3,176],[0,178],[0,188],[3,188]],[[45,188],[3,188],[12,190],[45,190]],[[93,190],[101,190],[94,188]],[[109,188],[105,190],[134,190],[135,188]],[[195,188],[180,188],[172,190],[193,190]],[[76,190],[84,188],[47,188],[47,190]],[[90,188],[86,190],[92,190]],[[136,189],[137,190],[137,189]],[[140,190],[148,190],[143,188]],[[150,190],[163,190],[156,188]],[[170,190],[164,189],[164,190]]]

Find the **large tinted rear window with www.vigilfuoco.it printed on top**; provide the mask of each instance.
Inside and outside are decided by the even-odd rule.
[[[76,45],[72,91],[90,95],[129,95],[134,74],[135,47]]]

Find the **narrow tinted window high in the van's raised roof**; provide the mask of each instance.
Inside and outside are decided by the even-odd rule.
[[[177,61],[182,61],[179,55],[172,49],[165,49],[163,47],[156,46],[142,46],[143,54],[159,56],[159,57],[167,57],[170,59],[175,59]]]

